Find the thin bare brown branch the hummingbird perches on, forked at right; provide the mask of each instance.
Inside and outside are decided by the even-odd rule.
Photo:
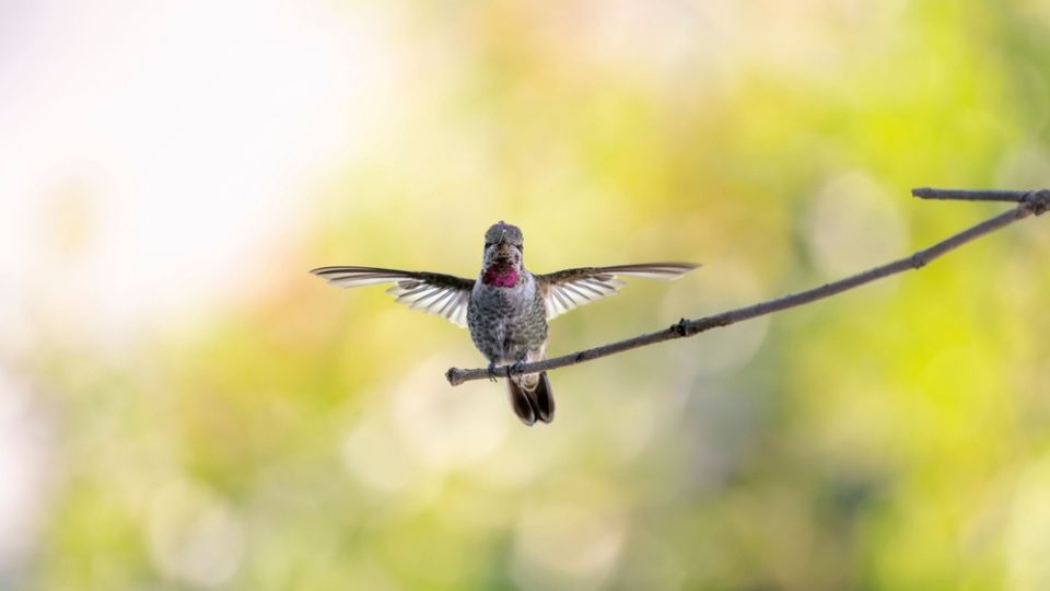
[[[608,345],[602,345],[599,347],[563,355],[561,357],[552,357],[535,363],[525,363],[514,370],[510,370],[509,367],[500,367],[497,368],[497,374],[506,375],[509,371],[514,374],[536,373],[540,371],[563,368],[565,366],[574,366],[592,359],[598,359],[599,357],[608,357],[610,355],[637,349],[639,347],[645,347],[648,345],[654,345],[656,343],[663,343],[665,340],[691,337],[712,328],[728,326],[740,321],[765,316],[767,314],[772,314],[773,312],[779,312],[796,305],[803,305],[817,300],[822,300],[824,298],[830,298],[837,293],[870,283],[884,277],[889,277],[890,275],[896,275],[910,269],[919,269],[928,265],[930,262],[970,241],[990,234],[1029,216],[1039,216],[1045,213],[1047,210],[1050,210],[1050,189],[1028,192],[958,190],[923,187],[912,189],[911,194],[922,199],[1013,201],[1019,205],[1010,211],[982,221],[981,223],[954,234],[934,244],[933,246],[930,246],[929,248],[919,251],[911,256],[894,260],[892,263],[887,263],[883,266],[859,273],[844,279],[839,279],[838,281],[833,281],[831,283],[826,283],[817,288],[800,291],[797,293],[768,300],[754,305],[737,308],[735,310],[721,312],[711,316],[704,316],[702,318],[681,318],[677,323],[664,328],[663,331],[639,335],[637,337],[618,340],[616,343],[609,343]],[[481,380],[488,376],[489,371],[487,369],[467,370],[450,368],[445,373],[445,378],[448,379],[448,383],[452,385],[459,385],[469,380]]]

